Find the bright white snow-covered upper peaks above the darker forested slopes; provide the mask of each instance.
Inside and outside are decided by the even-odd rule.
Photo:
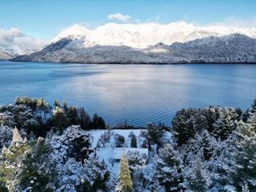
[[[187,42],[198,38],[222,36],[227,34],[245,34],[256,37],[256,28],[233,26],[194,26],[186,22],[171,22],[166,25],[158,23],[117,24],[106,23],[94,30],[88,30],[81,25],[74,25],[63,30],[52,42],[62,38],[80,40],[73,46],[78,48],[90,46],[130,46],[146,48],[158,42],[170,45],[174,42]]]

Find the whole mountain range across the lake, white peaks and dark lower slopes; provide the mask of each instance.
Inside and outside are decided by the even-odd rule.
[[[75,25],[19,62],[194,63],[256,62],[256,28],[108,23]]]

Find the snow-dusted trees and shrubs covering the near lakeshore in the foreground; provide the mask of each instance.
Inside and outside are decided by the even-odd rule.
[[[139,135],[124,126],[126,146],[97,114],[17,98],[0,106],[0,191],[256,190],[256,99],[248,110],[182,109],[170,121],[150,123]],[[97,141],[94,130],[104,130]],[[149,155],[124,155],[114,173],[100,158],[106,146],[146,148]]]

